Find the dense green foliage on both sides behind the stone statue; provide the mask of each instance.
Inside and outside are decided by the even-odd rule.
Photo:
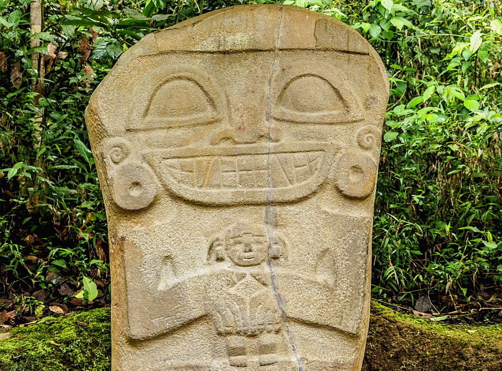
[[[54,277],[75,282],[89,301],[107,294],[106,217],[83,122],[88,98],[144,35],[240,3],[46,0],[45,25],[35,35],[42,45],[31,48],[29,2],[0,0],[4,296],[44,289],[67,302]],[[388,69],[373,291],[467,297],[481,282],[500,287],[500,3],[282,3],[351,25]],[[44,79],[34,51],[43,57]]]

